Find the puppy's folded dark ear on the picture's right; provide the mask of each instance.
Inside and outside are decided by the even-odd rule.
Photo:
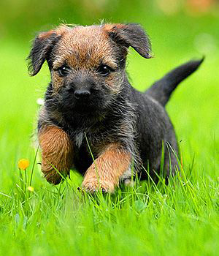
[[[113,41],[126,48],[131,46],[146,59],[152,58],[150,39],[139,24],[105,24],[104,29]]]

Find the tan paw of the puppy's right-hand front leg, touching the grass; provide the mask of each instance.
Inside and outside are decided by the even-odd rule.
[[[112,182],[107,181],[97,181],[97,179],[92,180],[84,180],[82,182],[82,189],[84,189],[86,192],[110,192],[112,193],[114,191],[115,185]]]

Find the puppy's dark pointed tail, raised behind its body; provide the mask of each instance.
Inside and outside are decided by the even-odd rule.
[[[196,71],[203,61],[204,57],[196,61],[188,61],[173,69],[171,72],[167,73],[164,78],[153,83],[145,93],[165,106],[177,85]]]

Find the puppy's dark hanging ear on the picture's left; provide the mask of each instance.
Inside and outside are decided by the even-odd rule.
[[[50,52],[66,29],[63,26],[55,30],[42,32],[34,39],[31,52],[27,58],[29,60],[28,71],[30,75],[37,75],[45,60],[47,60],[49,67],[51,66]]]

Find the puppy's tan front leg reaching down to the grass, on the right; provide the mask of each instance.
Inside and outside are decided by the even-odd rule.
[[[130,153],[121,149],[118,144],[111,144],[88,168],[82,187],[89,192],[98,189],[113,192],[120,176],[128,170],[130,162]]]

